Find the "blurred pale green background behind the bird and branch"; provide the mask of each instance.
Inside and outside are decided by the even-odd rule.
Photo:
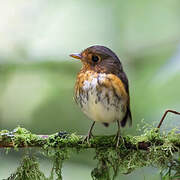
[[[60,130],[86,134],[91,120],[73,101],[80,62],[68,55],[105,45],[121,58],[130,83],[133,127],[156,125],[165,109],[180,111],[179,0],[19,0],[0,1],[0,129],[18,125],[36,134]],[[169,115],[162,129],[180,127]],[[115,134],[116,126],[97,124],[94,134]],[[88,157],[88,158],[87,158]],[[92,152],[64,164],[65,180],[88,180]],[[18,152],[0,150],[0,179],[18,166]],[[40,158],[41,168],[50,162]],[[159,170],[142,168],[117,179],[160,179]]]

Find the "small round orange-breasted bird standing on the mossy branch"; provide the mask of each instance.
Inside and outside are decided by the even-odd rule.
[[[81,60],[77,75],[74,99],[81,110],[93,120],[86,140],[92,137],[95,122],[106,127],[117,122],[116,146],[119,145],[120,127],[132,124],[129,84],[122,64],[116,54],[105,46],[88,47],[81,53],[70,54]]]

